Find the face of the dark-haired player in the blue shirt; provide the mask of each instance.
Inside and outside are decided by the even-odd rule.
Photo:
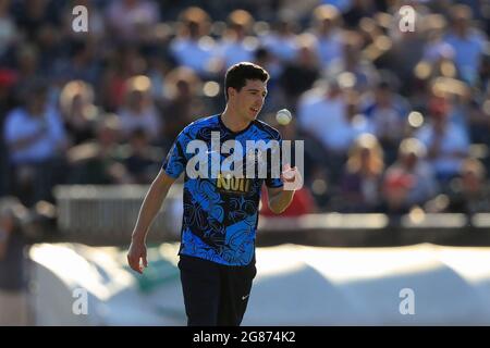
[[[229,89],[229,98],[235,113],[242,120],[254,121],[262,109],[267,95],[267,84],[260,79],[247,79],[238,91]]]

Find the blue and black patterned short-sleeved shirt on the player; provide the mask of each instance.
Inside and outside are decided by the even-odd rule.
[[[206,153],[212,152],[211,132],[219,132],[220,146],[226,140],[234,140],[242,145],[243,177],[230,177],[221,170],[217,173],[218,175],[211,175],[212,172],[209,171],[207,178],[189,177],[186,171],[188,161],[197,153],[199,156],[203,153],[200,151],[187,153],[187,145],[192,140],[203,140],[208,149]],[[261,186],[266,183],[268,187],[281,187],[283,183],[271,169],[271,163],[274,162],[264,161],[264,154],[259,156],[259,160],[255,162],[257,164],[255,178],[245,177],[246,156],[250,154],[246,152],[249,149],[247,140],[264,140],[267,145],[275,140],[282,144],[279,132],[261,121],[256,120],[247,128],[234,133],[222,123],[221,115],[197,120],[177,136],[162,167],[169,176],[174,178],[185,171],[180,254],[226,265],[247,265],[254,259]],[[224,151],[219,151],[220,163],[226,156],[234,153],[221,152]],[[268,159],[271,157],[269,151]],[[211,160],[209,160],[209,166],[210,162]],[[264,163],[267,166],[266,177],[258,175],[257,169]]]

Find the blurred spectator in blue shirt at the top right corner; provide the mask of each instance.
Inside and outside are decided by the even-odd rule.
[[[467,5],[457,4],[451,8],[450,32],[444,37],[444,42],[454,48],[461,78],[474,86],[478,82],[478,67],[487,38],[471,25],[471,9]]]

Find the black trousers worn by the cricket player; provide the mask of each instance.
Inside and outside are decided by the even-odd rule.
[[[182,290],[188,326],[238,326],[247,308],[255,258],[245,266],[230,266],[181,256]]]

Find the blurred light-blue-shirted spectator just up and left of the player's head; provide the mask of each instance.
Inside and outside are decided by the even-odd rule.
[[[206,11],[188,8],[179,16],[179,34],[170,42],[170,52],[176,63],[194,70],[200,77],[219,72],[219,66],[211,66],[216,42],[209,36],[209,27],[210,18]]]

